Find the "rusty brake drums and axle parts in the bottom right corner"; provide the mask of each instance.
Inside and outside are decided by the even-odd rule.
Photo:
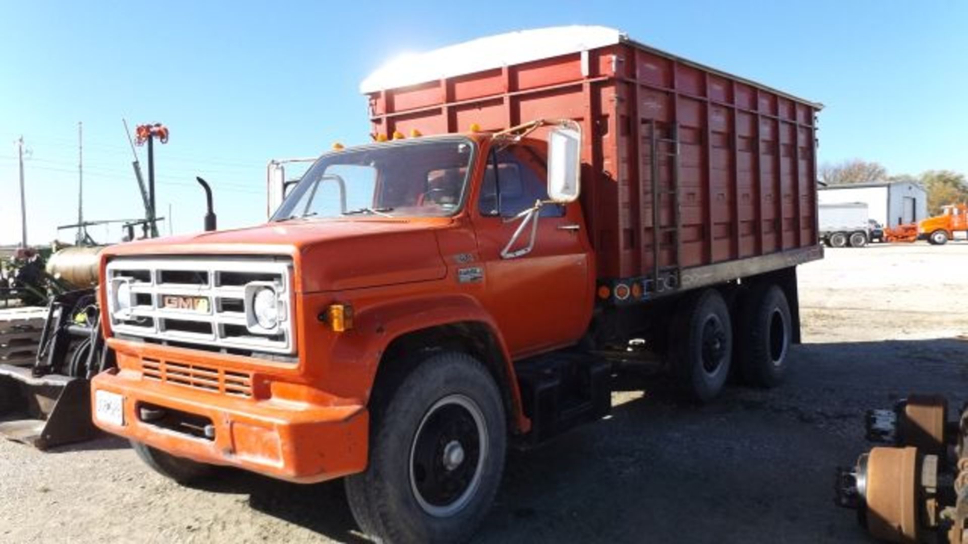
[[[885,445],[837,469],[836,502],[885,542],[968,543],[968,407],[953,422],[945,398],[911,395],[866,429]]]

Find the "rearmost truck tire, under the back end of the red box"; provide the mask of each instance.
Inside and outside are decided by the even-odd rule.
[[[740,313],[739,346],[742,378],[750,385],[775,387],[787,373],[793,318],[783,289],[753,287]]]

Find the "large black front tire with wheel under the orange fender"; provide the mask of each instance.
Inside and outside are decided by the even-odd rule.
[[[468,539],[504,468],[506,421],[494,378],[473,357],[442,352],[385,380],[371,407],[369,465],[346,478],[360,529],[383,542]]]

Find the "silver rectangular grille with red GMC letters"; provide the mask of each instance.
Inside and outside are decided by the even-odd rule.
[[[111,327],[129,336],[218,348],[291,354],[295,350],[292,265],[283,257],[119,257],[107,263]],[[254,324],[247,289],[272,287],[278,326]],[[127,288],[130,308],[119,308]]]

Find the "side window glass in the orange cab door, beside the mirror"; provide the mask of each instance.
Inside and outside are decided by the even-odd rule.
[[[531,155],[521,145],[511,145],[488,158],[484,184],[481,187],[478,208],[481,215],[491,217],[514,217],[534,205],[535,200],[548,199],[548,186],[543,171],[543,160]],[[498,164],[495,176],[495,163]],[[496,181],[497,177],[497,181]],[[564,206],[545,204],[541,217],[562,217]]]

